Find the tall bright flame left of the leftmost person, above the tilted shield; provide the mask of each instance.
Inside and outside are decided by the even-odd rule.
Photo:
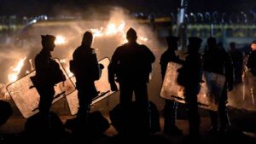
[[[18,64],[15,66],[15,68],[11,67],[13,72],[11,72],[8,75],[9,83],[13,83],[18,79],[18,74],[20,73],[20,70],[21,70],[22,66],[24,65],[24,60],[26,60],[26,57],[19,60]]]

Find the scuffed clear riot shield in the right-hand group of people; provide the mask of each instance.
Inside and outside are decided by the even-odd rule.
[[[162,98],[185,103],[183,86],[177,84],[177,69],[181,65],[169,62],[166,68],[166,76],[162,84],[160,96]],[[204,82],[201,83],[200,93],[197,95],[198,106],[212,111],[218,110],[218,100],[224,88],[223,75],[212,72],[203,72]]]

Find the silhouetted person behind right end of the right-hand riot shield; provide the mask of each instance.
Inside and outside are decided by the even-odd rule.
[[[224,75],[225,82],[221,97],[218,100],[218,112],[210,111],[212,127],[210,132],[217,133],[218,130],[226,132],[230,127],[230,119],[227,112],[226,104],[228,102],[228,90],[233,89],[233,66],[230,55],[217,46],[216,39],[209,37],[207,39],[208,50],[203,55],[203,69],[207,72],[214,72]],[[218,128],[218,116],[220,121],[220,129]]]

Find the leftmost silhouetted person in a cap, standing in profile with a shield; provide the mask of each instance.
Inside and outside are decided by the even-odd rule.
[[[50,55],[50,52],[55,49],[55,36],[42,35],[41,37],[43,49],[35,57],[36,79],[33,84],[40,95],[39,112],[44,118],[48,119],[55,95],[54,86],[61,81],[65,81],[66,78],[59,64]]]

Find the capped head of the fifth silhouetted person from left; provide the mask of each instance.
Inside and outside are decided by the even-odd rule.
[[[197,53],[201,47],[202,39],[200,37],[189,37],[189,53]]]

